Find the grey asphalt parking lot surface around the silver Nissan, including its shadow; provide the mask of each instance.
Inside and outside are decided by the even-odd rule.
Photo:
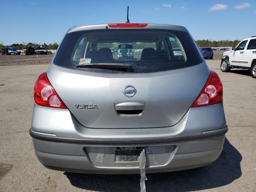
[[[44,168],[34,154],[30,129],[34,83],[47,64],[18,56],[0,58],[0,191],[140,191],[139,175],[94,175]],[[52,56],[41,56],[49,62]],[[13,62],[13,63],[14,63]],[[229,131],[213,164],[179,172],[147,174],[147,192],[256,191],[256,79],[248,70],[223,73],[220,60],[206,60],[224,86]],[[26,65],[30,64],[30,65]],[[5,66],[6,65],[6,66]]]

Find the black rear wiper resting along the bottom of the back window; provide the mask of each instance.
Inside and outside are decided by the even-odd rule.
[[[121,68],[121,69],[132,69],[132,64],[130,63],[91,63],[91,64],[82,64],[76,65],[80,68]]]

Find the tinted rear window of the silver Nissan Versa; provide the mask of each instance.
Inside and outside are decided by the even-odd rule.
[[[132,68],[77,67],[80,64],[130,64]],[[66,34],[54,64],[103,73],[152,73],[202,63],[187,32],[118,29]],[[97,65],[99,66],[99,65]]]

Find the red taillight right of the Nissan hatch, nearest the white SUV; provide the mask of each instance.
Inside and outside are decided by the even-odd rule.
[[[216,72],[210,71],[210,76],[192,107],[219,103],[222,101],[222,94],[222,83],[219,76]]]

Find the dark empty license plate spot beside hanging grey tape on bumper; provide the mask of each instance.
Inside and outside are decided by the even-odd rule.
[[[138,162],[141,150],[116,150],[115,162]]]

